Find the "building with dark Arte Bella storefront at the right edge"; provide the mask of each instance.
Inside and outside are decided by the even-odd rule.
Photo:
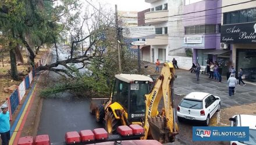
[[[222,0],[222,7],[221,44],[230,46],[230,66],[256,82],[256,1]]]

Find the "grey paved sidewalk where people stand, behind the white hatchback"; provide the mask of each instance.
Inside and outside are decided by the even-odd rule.
[[[155,72],[154,63],[145,63],[147,73],[152,77],[158,77],[161,72]],[[234,96],[228,94],[228,84],[226,77],[222,77],[222,82],[210,79],[207,74],[200,74],[200,81],[196,81],[194,73],[189,70],[175,69],[175,95],[184,96],[190,92],[208,92],[221,97],[222,110],[216,115],[217,125],[228,125],[229,118],[234,114],[256,114],[256,89],[253,83],[246,83],[246,86],[237,85]]]

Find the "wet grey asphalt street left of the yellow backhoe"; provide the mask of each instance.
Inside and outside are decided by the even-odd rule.
[[[56,61],[53,55],[51,62]],[[60,60],[65,55],[60,55]],[[62,67],[62,66],[59,66]],[[56,73],[49,73],[48,81],[58,83]],[[65,141],[65,133],[81,131],[85,129],[102,128],[102,124],[95,121],[95,117],[89,113],[90,101],[79,99],[69,92],[58,93],[55,98],[44,99],[38,126],[37,135],[49,135],[51,143],[62,144]]]

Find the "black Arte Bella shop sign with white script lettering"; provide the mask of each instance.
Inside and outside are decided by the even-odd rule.
[[[221,42],[256,44],[256,22],[221,26]]]

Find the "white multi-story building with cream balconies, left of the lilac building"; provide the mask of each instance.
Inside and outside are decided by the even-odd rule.
[[[145,39],[150,45],[150,62],[161,63],[168,56],[168,0],[145,0],[150,3],[150,12],[145,13],[145,25],[155,27],[155,38]]]

